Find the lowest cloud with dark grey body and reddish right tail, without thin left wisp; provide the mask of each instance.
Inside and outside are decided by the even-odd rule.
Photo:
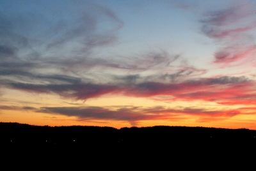
[[[116,107],[115,107],[116,108]],[[207,117],[233,117],[239,115],[239,110],[205,110],[204,108],[183,108],[171,109],[164,107],[117,107],[116,110],[111,110],[106,107],[42,107],[37,112],[47,114],[60,114],[68,117],[75,116],[78,121],[84,120],[114,120],[114,121],[128,121],[131,124],[147,120],[161,120],[161,119],[185,119],[180,117],[184,115],[198,115]]]

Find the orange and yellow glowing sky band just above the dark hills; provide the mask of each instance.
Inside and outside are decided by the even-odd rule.
[[[55,98],[56,99],[56,98]],[[31,101],[34,101],[31,99]],[[58,101],[58,100],[57,100]],[[67,100],[68,103],[68,100]],[[71,102],[70,102],[71,103]],[[193,106],[193,108],[184,108],[184,106]],[[256,108],[245,107],[245,106],[226,106],[218,105],[218,103],[205,102],[204,101],[175,101],[171,102],[161,102],[148,100],[145,98],[126,98],[126,97],[105,97],[105,98],[95,98],[83,103],[79,103],[79,107],[83,104],[83,109],[88,107],[94,107],[102,110],[116,111],[116,115],[122,115],[122,112],[126,112],[127,108],[120,110],[123,107],[128,108],[133,112],[129,114],[131,116],[131,121],[123,120],[113,120],[111,118],[97,119],[97,117],[83,118],[77,116],[68,116],[61,113],[44,113],[40,110],[38,104],[31,108],[6,108],[1,110],[1,122],[14,122],[14,123],[26,123],[38,126],[109,126],[113,128],[123,128],[123,127],[145,127],[145,126],[204,126],[204,127],[216,127],[216,128],[244,128],[244,123],[246,123],[246,128],[256,130],[255,118]],[[112,105],[115,104],[115,105]],[[140,104],[140,106],[136,106]],[[144,105],[145,104],[145,105]],[[61,107],[58,103],[51,103],[51,107]],[[66,105],[67,107],[67,105]],[[70,104],[69,107],[76,108],[77,104]],[[135,107],[135,108],[134,108]],[[238,107],[238,109],[237,109]],[[206,109],[207,110],[202,110]],[[234,108],[234,109],[233,109]],[[36,111],[38,110],[38,111]],[[98,110],[98,109],[97,109]],[[97,111],[95,110],[95,112]],[[227,112],[222,112],[223,110]],[[87,111],[87,110],[85,110]],[[94,111],[94,110],[93,110]],[[240,111],[240,113],[239,113]],[[104,112],[104,111],[103,111]],[[108,111],[107,111],[108,112]],[[143,115],[143,119],[136,119],[137,114]],[[125,117],[124,113],[124,117]],[[132,115],[134,115],[132,118]],[[33,117],[31,117],[33,116]],[[135,120],[134,120],[135,119]]]

